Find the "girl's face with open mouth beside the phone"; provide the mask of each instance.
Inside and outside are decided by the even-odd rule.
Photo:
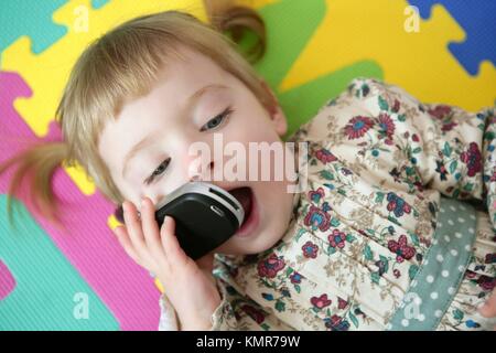
[[[215,156],[214,133],[222,133],[224,146],[240,142],[248,163],[248,142],[280,142],[287,130],[285,117],[276,103],[269,113],[242,82],[212,60],[185,47],[182,53],[186,60],[169,62],[160,72],[159,84],[148,95],[127,101],[99,139],[100,156],[117,188],[138,208],[142,196],[157,204],[191,181],[191,163],[198,157],[190,153],[192,143],[209,147],[208,162],[214,175],[216,169],[225,170],[226,162],[233,159],[226,153]],[[194,95],[206,86],[209,88],[203,94]],[[226,109],[231,113],[223,116]],[[128,159],[129,151],[149,135],[150,140]],[[259,158],[259,170],[261,163]],[[209,182],[228,191],[249,188],[251,193],[245,194],[245,201],[251,201],[254,207],[245,217],[242,229],[217,252],[254,254],[271,247],[284,234],[291,216],[294,194],[287,191],[290,181],[285,176],[273,181],[273,173],[270,181],[260,181],[260,175],[256,180],[226,181],[223,172],[219,175],[220,181],[212,176]]]

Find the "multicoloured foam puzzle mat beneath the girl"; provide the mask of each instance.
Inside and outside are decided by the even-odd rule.
[[[494,0],[238,2],[267,23],[268,51],[256,68],[287,113],[289,133],[357,76],[397,84],[425,103],[467,110],[495,104]],[[0,161],[28,141],[61,139],[55,108],[88,43],[168,9],[207,21],[201,0],[1,1]],[[109,229],[115,205],[84,172],[61,167],[53,179],[71,232],[32,213],[28,191],[14,200],[12,228],[11,176],[0,175],[0,330],[157,330],[160,286],[120,248]]]

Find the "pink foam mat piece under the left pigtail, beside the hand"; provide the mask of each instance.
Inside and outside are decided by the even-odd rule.
[[[17,97],[30,95],[30,87],[18,74],[0,72],[0,160],[30,141],[40,141],[12,107]],[[58,125],[52,121],[43,140],[61,138]],[[0,193],[7,193],[11,176],[12,170],[0,175]],[[52,185],[61,202],[58,216],[69,232],[58,229],[36,213],[33,217],[111,310],[121,330],[157,330],[160,292],[150,274],[126,255],[108,228],[107,220],[115,206],[99,192],[82,194],[62,168],[55,171]],[[20,193],[20,200],[28,210],[34,210],[28,190]],[[22,225],[20,221],[15,223]]]

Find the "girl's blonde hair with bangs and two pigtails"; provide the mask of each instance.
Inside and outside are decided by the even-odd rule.
[[[263,21],[250,9],[225,6],[218,9],[208,1],[206,6],[212,24],[177,11],[143,15],[120,24],[84,51],[56,110],[63,141],[33,145],[0,164],[0,173],[18,164],[8,194],[9,220],[10,197],[17,194],[23,178],[29,178],[36,211],[60,225],[51,180],[62,162],[75,165],[77,161],[108,200],[116,204],[123,202],[98,153],[99,132],[106,121],[116,118],[126,100],[151,90],[166,60],[180,57],[179,45],[212,58],[240,79],[262,105],[270,107],[269,92],[235,43],[239,40],[236,33],[252,30],[258,43],[251,50],[250,60],[260,57],[266,42]],[[231,31],[233,39],[223,35],[225,31]]]

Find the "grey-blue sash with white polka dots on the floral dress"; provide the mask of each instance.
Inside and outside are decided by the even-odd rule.
[[[433,245],[392,317],[389,330],[435,330],[471,260],[475,215],[476,211],[470,204],[441,199]]]

